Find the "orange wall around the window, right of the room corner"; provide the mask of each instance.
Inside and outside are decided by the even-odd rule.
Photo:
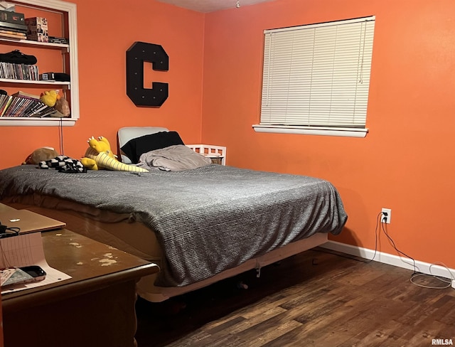
[[[276,0],[208,14],[203,142],[227,146],[233,166],[333,182],[349,219],[332,240],[374,249],[376,217],[391,208],[400,250],[454,268],[454,14],[452,0]],[[262,31],[371,15],[367,137],[255,133]],[[385,235],[380,250],[397,254]]]

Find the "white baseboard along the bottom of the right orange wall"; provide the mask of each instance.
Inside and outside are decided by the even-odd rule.
[[[372,259],[374,256],[373,260],[375,262],[382,262],[384,264],[414,270],[414,262],[412,262],[412,260],[407,257],[399,257],[397,255],[390,255],[389,253],[384,252],[376,252],[375,255],[375,250],[369,250],[368,248],[357,247],[353,245],[346,245],[345,243],[336,241],[328,241],[319,247],[346,253],[348,255],[355,255],[356,257],[362,257],[368,260]],[[455,282],[455,269],[447,269],[441,265],[421,262],[419,260],[415,260],[415,269],[417,272],[422,272],[423,274],[433,274],[435,276],[446,277],[454,280]]]

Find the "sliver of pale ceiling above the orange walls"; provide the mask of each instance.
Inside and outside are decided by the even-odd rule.
[[[213,12],[225,9],[235,9],[237,7],[237,0],[157,0],[172,4],[185,9],[191,9],[198,12]],[[240,7],[259,4],[259,2],[266,2],[272,0],[238,0]]]

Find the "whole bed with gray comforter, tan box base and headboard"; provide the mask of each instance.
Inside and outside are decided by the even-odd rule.
[[[163,133],[173,132],[119,129],[119,158],[149,167],[131,163],[126,145],[136,142],[139,150],[139,140]],[[172,143],[142,154],[186,146]],[[202,149],[186,147],[194,154]],[[140,151],[144,148],[149,149]],[[146,173],[15,166],[0,171],[0,201],[63,220],[70,230],[156,262],[160,272],[137,284],[139,296],[149,301],[164,301],[249,269],[259,273],[265,265],[323,244],[328,233],[341,233],[347,220],[341,197],[328,181],[211,161],[191,169],[149,167]]]

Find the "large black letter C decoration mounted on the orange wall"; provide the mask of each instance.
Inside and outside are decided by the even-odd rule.
[[[135,42],[127,50],[127,95],[138,107],[160,107],[168,98],[168,83],[152,82],[144,88],[144,61],[153,70],[168,71],[169,57],[160,45]]]

